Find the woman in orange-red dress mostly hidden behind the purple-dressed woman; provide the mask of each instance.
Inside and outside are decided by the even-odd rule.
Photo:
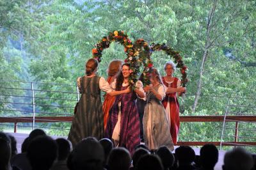
[[[115,78],[116,75],[120,72],[122,66],[122,61],[120,60],[113,60],[108,66],[108,83],[111,84]],[[104,102],[102,104],[102,110],[104,114],[104,130],[107,127],[108,117],[109,117],[109,111],[112,107],[112,105],[115,102],[115,96],[111,96],[108,93],[104,97]]]

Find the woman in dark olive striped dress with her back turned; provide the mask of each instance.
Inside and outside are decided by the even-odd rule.
[[[100,100],[100,91],[106,91],[109,95],[129,93],[129,89],[113,91],[104,77],[96,75],[98,68],[96,59],[89,59],[86,63],[86,75],[77,79],[81,98],[72,121],[68,140],[73,146],[85,137],[104,137],[103,112]]]

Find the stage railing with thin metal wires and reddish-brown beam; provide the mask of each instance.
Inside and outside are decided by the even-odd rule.
[[[0,125],[3,128],[13,127],[14,132],[17,132],[19,127],[34,128],[48,128],[53,130],[69,130],[72,116],[74,115],[74,106],[79,100],[79,89],[76,84],[56,84],[47,82],[22,82],[22,81],[4,81],[0,80]],[[17,83],[17,85],[15,85]],[[186,94],[184,103],[181,104],[188,111],[189,100],[193,100],[195,95]],[[202,145],[205,143],[214,143],[220,146],[256,146],[255,136],[239,135],[240,131],[255,131],[247,127],[239,127],[243,122],[250,122],[250,125],[256,124],[256,98],[242,98],[242,97],[227,97],[220,95],[202,95],[202,102],[198,103],[198,108],[208,107],[214,108],[214,116],[212,115],[195,115],[180,116],[182,123],[191,122],[223,122],[220,130],[220,141],[195,141],[185,142],[181,141],[178,144]],[[207,103],[203,98],[218,98],[218,100],[209,100]],[[252,105],[246,105],[243,102],[236,104],[234,100],[253,100]],[[219,106],[218,101],[226,105]],[[199,100],[200,101],[200,100]],[[224,102],[223,102],[224,101]],[[239,108],[230,109],[231,107]],[[242,108],[242,109],[241,109]],[[241,110],[247,109],[244,114]],[[228,110],[229,109],[229,110]],[[223,113],[221,113],[223,111]],[[227,123],[235,123],[235,127],[227,126]],[[9,124],[6,124],[9,123]],[[11,124],[10,124],[11,123]],[[32,125],[28,124],[32,123]],[[42,126],[37,123],[44,123]],[[67,123],[64,127],[54,127],[52,123]],[[255,127],[256,129],[256,127]],[[225,134],[228,130],[235,130],[235,132]],[[252,133],[253,134],[253,133]],[[233,141],[225,141],[225,137],[233,137]],[[239,141],[239,139],[250,139],[249,141]]]

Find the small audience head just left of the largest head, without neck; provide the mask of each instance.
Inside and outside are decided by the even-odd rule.
[[[72,144],[64,138],[58,138],[55,141],[58,145],[58,160],[66,160],[72,150]]]

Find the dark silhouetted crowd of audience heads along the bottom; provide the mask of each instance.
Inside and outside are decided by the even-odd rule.
[[[0,132],[1,170],[213,170],[218,162],[218,149],[205,144],[200,155],[189,146],[179,146],[175,153],[166,146],[148,150],[136,146],[131,155],[126,148],[113,148],[109,139],[86,137],[73,149],[64,138],[52,139],[43,130],[35,129],[24,140],[17,153],[15,137]],[[224,157],[223,170],[256,170],[255,155],[234,148]]]

